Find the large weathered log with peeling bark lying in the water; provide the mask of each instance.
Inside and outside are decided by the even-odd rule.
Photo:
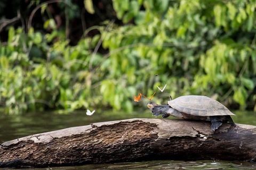
[[[133,118],[30,135],[0,145],[0,167],[48,167],[142,160],[256,158],[256,126]]]

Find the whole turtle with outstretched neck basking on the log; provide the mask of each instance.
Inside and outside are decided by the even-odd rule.
[[[147,104],[154,116],[162,115],[163,118],[174,116],[185,120],[211,121],[211,131],[215,131],[222,122],[229,122],[236,126],[230,115],[235,115],[219,101],[207,96],[181,96],[170,101],[167,105]]]

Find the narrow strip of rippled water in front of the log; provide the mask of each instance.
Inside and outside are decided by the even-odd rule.
[[[97,164],[83,166],[68,166],[68,167],[48,167],[48,168],[25,168],[27,170],[102,170],[102,169],[136,169],[136,170],[158,170],[158,169],[255,169],[256,163],[245,162],[183,162],[173,160],[161,160],[140,163],[118,163],[118,164]],[[24,169],[24,170],[25,170]],[[7,170],[7,169],[6,169]]]

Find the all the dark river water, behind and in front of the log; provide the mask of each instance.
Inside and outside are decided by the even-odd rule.
[[[235,123],[256,125],[255,112],[234,111],[232,116]],[[95,122],[123,120],[127,118],[155,118],[149,111],[134,113],[100,112],[87,116],[86,111],[65,112],[37,112],[22,115],[5,115],[0,112],[0,143],[25,137],[27,135],[65,129],[74,126],[89,125]],[[159,116],[161,118],[161,116]],[[255,168],[254,168],[255,167]],[[30,168],[31,170],[33,168]],[[256,169],[256,163],[222,162],[212,160],[198,160],[197,162],[183,162],[161,160],[139,163],[98,164],[69,167],[49,167],[42,169]]]

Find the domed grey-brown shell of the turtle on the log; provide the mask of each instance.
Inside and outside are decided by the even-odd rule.
[[[181,96],[168,101],[168,104],[179,112],[194,116],[235,115],[219,101],[206,96]]]

